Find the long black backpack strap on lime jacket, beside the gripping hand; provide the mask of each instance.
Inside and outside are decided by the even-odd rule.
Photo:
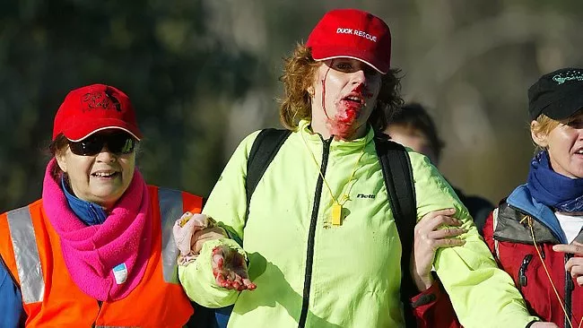
[[[385,177],[388,203],[390,203],[396,229],[401,239],[401,301],[405,310],[405,327],[416,327],[410,299],[417,294],[413,277],[409,272],[413,237],[417,223],[417,205],[413,184],[413,168],[405,147],[387,140],[386,136],[375,137],[375,147],[380,168]]]

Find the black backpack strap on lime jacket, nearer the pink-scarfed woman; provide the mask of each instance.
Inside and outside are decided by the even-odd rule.
[[[282,129],[264,129],[257,134],[257,138],[249,151],[247,160],[247,179],[245,182],[245,191],[247,192],[247,215],[249,213],[249,203],[255,188],[263,177],[265,170],[272,160],[274,160],[277,151],[282,148],[283,142],[292,134],[290,130]],[[247,216],[246,215],[246,216]]]

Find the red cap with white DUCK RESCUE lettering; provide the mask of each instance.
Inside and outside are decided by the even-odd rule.
[[[391,31],[379,17],[357,9],[335,9],[309,34],[315,60],[349,57],[386,74],[391,64]]]

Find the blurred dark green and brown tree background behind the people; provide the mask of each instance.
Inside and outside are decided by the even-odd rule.
[[[526,90],[583,65],[579,1],[2,0],[0,211],[39,198],[57,108],[93,82],[132,99],[150,183],[208,195],[241,138],[279,126],[282,58],[335,7],[388,22],[404,97],[431,109],[454,185],[498,202],[525,180]]]

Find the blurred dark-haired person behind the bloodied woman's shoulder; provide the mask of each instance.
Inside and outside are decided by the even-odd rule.
[[[433,165],[439,167],[441,150],[445,144],[439,138],[433,119],[421,104],[405,104],[401,110],[396,111],[390,117],[385,133],[393,141],[399,142],[413,151],[421,152],[431,160]],[[494,205],[483,197],[466,195],[456,187],[454,190],[459,200],[470,211],[478,232],[482,233],[483,223],[494,209]]]

